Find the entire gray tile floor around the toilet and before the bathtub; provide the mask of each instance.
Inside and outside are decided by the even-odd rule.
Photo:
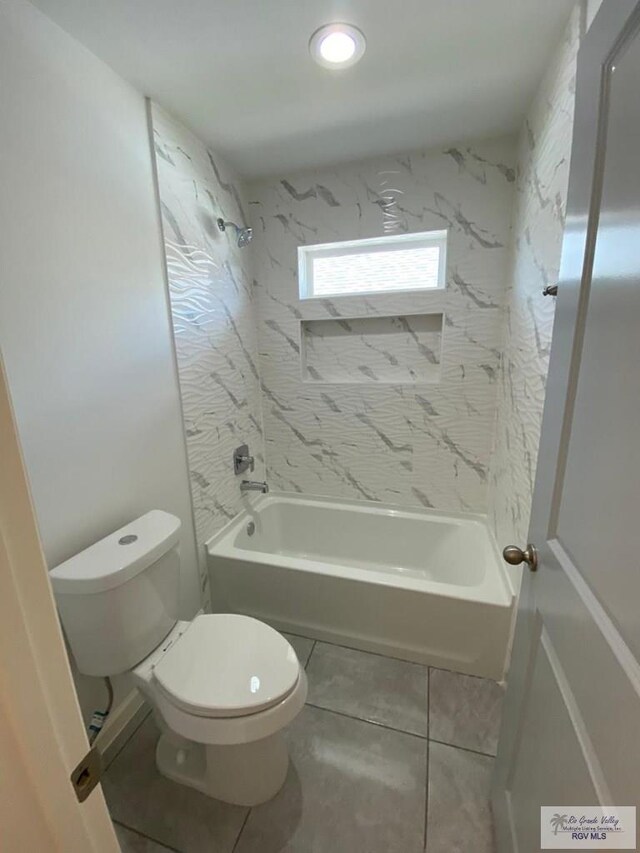
[[[125,853],[492,853],[492,681],[286,635],[307,668],[291,766],[247,809],[170,782],[148,716],[104,792]]]

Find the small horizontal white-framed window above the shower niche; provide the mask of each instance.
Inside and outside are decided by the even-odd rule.
[[[300,298],[443,288],[446,254],[446,231],[300,246]]]

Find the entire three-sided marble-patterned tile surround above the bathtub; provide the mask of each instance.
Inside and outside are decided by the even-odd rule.
[[[488,511],[498,541],[525,540],[581,32],[576,7],[517,140],[243,187],[152,107],[203,584],[205,542],[245,506],[245,440],[274,489]],[[299,298],[298,246],[440,229],[444,291]]]

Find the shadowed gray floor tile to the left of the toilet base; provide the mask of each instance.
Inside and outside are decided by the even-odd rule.
[[[111,816],[182,853],[230,853],[247,809],[161,776],[155,764],[158,734],[147,718],[107,770],[103,789]]]

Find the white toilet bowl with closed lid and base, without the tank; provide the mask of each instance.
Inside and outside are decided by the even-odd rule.
[[[236,805],[271,799],[287,775],[282,730],[307,679],[285,638],[248,616],[178,622],[132,670],[156,713],[163,775]]]

